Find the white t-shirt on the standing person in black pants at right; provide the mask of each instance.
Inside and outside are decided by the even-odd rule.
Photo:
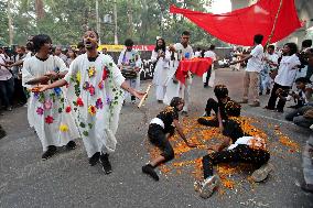
[[[291,87],[295,78],[296,66],[299,65],[301,65],[301,63],[295,54],[292,56],[282,56],[274,83]]]

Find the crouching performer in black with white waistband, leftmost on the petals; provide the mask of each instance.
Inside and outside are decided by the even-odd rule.
[[[162,153],[149,164],[142,166],[142,172],[150,175],[153,179],[159,180],[159,176],[154,168],[164,162],[174,158],[174,150],[169,142],[169,138],[174,134],[176,128],[180,136],[184,140],[187,146],[195,147],[196,144],[192,144],[187,141],[183,133],[181,124],[179,122],[179,111],[184,108],[184,100],[179,97],[174,97],[169,107],[161,111],[156,118],[152,119],[148,130],[148,136],[152,144],[158,146]],[[172,125],[174,123],[174,127]]]

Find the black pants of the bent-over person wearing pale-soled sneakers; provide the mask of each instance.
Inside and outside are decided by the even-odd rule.
[[[204,178],[213,176],[213,166],[219,163],[249,163],[259,168],[270,160],[270,153],[239,144],[233,150],[205,155],[202,160]]]

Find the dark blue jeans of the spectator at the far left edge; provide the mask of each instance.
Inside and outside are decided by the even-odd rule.
[[[13,77],[8,80],[0,80],[0,96],[2,105],[8,108],[12,106],[12,97],[14,92]]]

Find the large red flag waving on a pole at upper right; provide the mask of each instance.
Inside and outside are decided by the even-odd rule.
[[[248,8],[224,14],[211,14],[171,6],[171,13],[180,13],[217,39],[236,44],[251,46],[253,36],[262,34],[266,43],[273,29],[280,0],[259,0]],[[301,28],[294,0],[282,0],[271,43],[278,42]]]

